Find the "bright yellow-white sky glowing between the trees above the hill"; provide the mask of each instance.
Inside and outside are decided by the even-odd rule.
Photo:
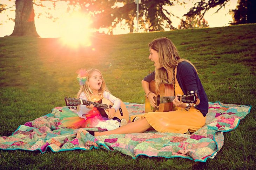
[[[14,22],[9,20],[8,17],[15,19],[15,7],[10,8],[14,5],[14,0],[0,0],[1,4],[6,4],[7,10],[4,10],[0,13],[0,37],[10,35],[14,29]],[[183,15],[189,11],[193,6],[193,2],[198,2],[199,0],[184,0],[186,4],[179,5],[174,4],[174,6],[166,6],[167,11],[171,11],[174,15],[183,18]],[[69,6],[69,1],[58,1],[53,6],[51,1],[42,1],[43,6],[34,5],[35,11],[35,27],[39,36],[42,38],[57,38],[61,37],[61,43],[70,45],[72,47],[78,46],[90,46],[89,36],[92,32],[90,29],[90,24],[92,21],[87,15],[79,14],[80,10],[79,5]],[[124,3],[115,2],[114,7],[122,7]],[[206,12],[205,19],[208,21],[210,27],[223,27],[228,26],[229,21],[232,21],[232,16],[228,14],[230,9],[235,9],[237,5],[237,0],[230,0],[225,5],[224,9],[219,10],[217,14],[214,14],[217,8],[210,9]],[[87,3],[88,7],[89,4]],[[68,10],[69,9],[69,10]],[[69,12],[67,12],[69,11]],[[76,14],[73,14],[76,13]],[[178,27],[180,24],[180,19],[170,16],[172,25]],[[143,22],[144,18],[142,18]],[[134,32],[136,32],[136,17],[134,17]],[[148,32],[148,24],[145,28],[139,23],[138,32]],[[113,29],[113,30],[112,30]],[[164,28],[165,31],[169,31],[170,28]],[[116,27],[113,28],[109,26],[107,28],[100,28],[99,30],[94,29],[94,32],[99,31],[100,33],[110,34],[110,31],[113,34],[127,34],[130,32],[128,24],[124,20],[117,23]]]

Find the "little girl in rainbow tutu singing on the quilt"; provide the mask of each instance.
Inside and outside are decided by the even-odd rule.
[[[119,120],[115,118],[113,120],[121,101],[110,94],[98,69],[90,69],[88,71],[80,69],[77,79],[81,86],[77,98],[92,102],[99,102],[102,98],[106,98],[113,103],[113,107],[107,109],[109,111],[108,118],[102,117],[99,110],[93,104],[89,106],[81,104],[77,110],[73,110],[74,112],[63,108],[61,113],[63,126],[68,128],[100,127],[102,129],[114,130],[127,124],[126,119]]]

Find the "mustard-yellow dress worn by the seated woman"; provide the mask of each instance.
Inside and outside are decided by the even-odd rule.
[[[175,82],[175,94],[183,95],[183,92],[178,83]],[[191,106],[189,111],[182,110],[179,107],[174,107],[171,112],[148,112],[134,117],[146,118],[148,123],[158,132],[171,132],[171,133],[186,133],[195,132],[204,126],[206,117]]]

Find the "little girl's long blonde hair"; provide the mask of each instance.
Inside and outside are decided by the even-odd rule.
[[[86,73],[88,74],[87,81],[85,82],[85,84],[83,84],[83,85],[80,87],[80,89],[79,89],[79,91],[78,91],[78,94],[77,94],[77,98],[79,98],[79,96],[80,96],[81,93],[83,92],[83,93],[85,93],[85,95],[86,95],[86,97],[87,97],[87,100],[89,100],[89,101],[91,100],[90,96],[93,94],[93,91],[92,91],[92,89],[89,87],[88,81],[89,81],[89,78],[92,76],[92,73],[95,72],[95,71],[96,71],[96,72],[99,72],[100,75],[101,75],[102,84],[101,84],[100,89],[98,90],[99,95],[101,96],[101,98],[103,98],[103,93],[104,93],[104,91],[108,91],[108,92],[109,92],[109,90],[108,90],[108,88],[107,88],[107,86],[106,86],[106,83],[105,83],[105,81],[104,81],[104,79],[103,79],[103,76],[102,76],[101,72],[100,72],[98,69],[92,68],[92,69],[89,69],[89,70],[86,71]]]

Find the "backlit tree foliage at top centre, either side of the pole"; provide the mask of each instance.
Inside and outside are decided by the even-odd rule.
[[[178,2],[178,0],[175,0]],[[134,0],[81,0],[79,4],[83,11],[89,11],[93,17],[94,27],[110,27],[119,23],[123,19],[128,24],[130,32],[133,32],[134,19],[136,17],[136,4]],[[117,6],[117,3],[123,6]],[[75,5],[77,1],[70,4]],[[163,30],[163,27],[172,28],[171,12],[164,6],[172,6],[174,1],[169,0],[142,0],[139,4],[139,24],[140,27],[148,31]]]

